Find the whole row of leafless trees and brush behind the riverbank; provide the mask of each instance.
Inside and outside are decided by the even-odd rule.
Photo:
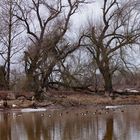
[[[139,48],[140,3],[103,0],[99,21],[91,15],[88,24],[73,31],[73,16],[96,2],[1,1],[0,89],[34,91],[38,97],[49,88],[110,94],[126,73],[134,79],[138,67],[130,57]]]

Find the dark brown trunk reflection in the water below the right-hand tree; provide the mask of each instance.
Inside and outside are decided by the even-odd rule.
[[[103,140],[113,140],[113,117],[106,120],[106,132]]]

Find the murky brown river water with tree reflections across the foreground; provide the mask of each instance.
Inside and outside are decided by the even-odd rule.
[[[140,107],[1,112],[0,140],[140,140]]]

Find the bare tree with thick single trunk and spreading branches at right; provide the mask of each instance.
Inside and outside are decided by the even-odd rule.
[[[103,76],[105,91],[112,92],[112,75],[119,68],[115,61],[122,61],[122,50],[135,47],[140,37],[140,13],[135,10],[133,2],[120,2],[117,0],[104,0],[102,8],[102,21],[90,24],[85,34],[87,49]],[[123,61],[125,62],[125,61]],[[113,64],[114,63],[114,64]]]

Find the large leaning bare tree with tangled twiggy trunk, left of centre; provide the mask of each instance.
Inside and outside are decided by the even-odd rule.
[[[56,64],[79,47],[81,39],[70,43],[66,35],[72,15],[84,3],[87,2],[22,0],[16,3],[18,10],[15,16],[23,23],[31,41],[25,52],[25,71],[30,83],[39,81],[37,85],[47,87],[48,78]]]

